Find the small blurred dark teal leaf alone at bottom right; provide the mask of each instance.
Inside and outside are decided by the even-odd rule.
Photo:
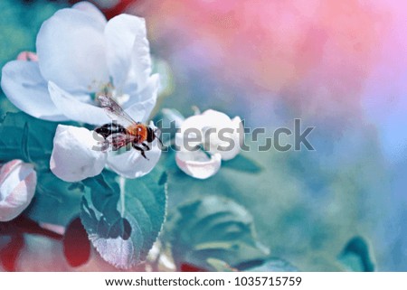
[[[369,246],[362,237],[349,240],[338,260],[346,271],[374,272],[374,262]]]

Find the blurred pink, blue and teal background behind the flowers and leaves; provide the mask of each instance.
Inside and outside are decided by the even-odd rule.
[[[1,66],[20,51],[35,51],[43,20],[74,2],[2,0]],[[259,174],[222,168],[189,191],[175,181],[170,209],[221,194],[251,212],[273,256],[301,270],[337,270],[337,255],[355,236],[369,241],[377,270],[407,270],[404,1],[93,3],[108,18],[146,18],[157,70],[166,71],[162,108],[185,116],[193,105],[218,109],[267,128],[268,136],[292,128],[295,118],[316,127],[308,137],[315,151],[248,153],[263,167]],[[2,96],[1,113],[8,110],[16,109]],[[232,182],[222,186],[225,180]],[[42,258],[54,263],[51,255]]]

